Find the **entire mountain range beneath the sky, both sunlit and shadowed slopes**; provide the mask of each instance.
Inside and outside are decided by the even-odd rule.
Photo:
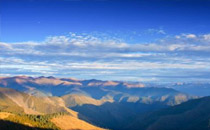
[[[32,128],[209,129],[209,101],[208,97],[137,82],[43,76],[0,78],[0,119]],[[9,116],[1,116],[5,113]],[[48,125],[43,125],[40,117]],[[199,119],[194,120],[196,117]],[[171,127],[163,125],[165,121]]]

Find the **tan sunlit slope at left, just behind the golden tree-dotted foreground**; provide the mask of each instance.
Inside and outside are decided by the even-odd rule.
[[[62,99],[57,97],[35,97],[13,89],[0,87],[0,108],[26,114],[48,114],[67,112]]]

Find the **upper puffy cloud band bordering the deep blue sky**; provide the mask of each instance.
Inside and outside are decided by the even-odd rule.
[[[187,41],[182,37],[194,39]],[[178,41],[176,40],[178,38]],[[194,34],[176,36],[176,38],[163,40],[157,43],[138,43],[129,44],[116,42],[114,40],[103,41],[96,37],[77,36],[55,36],[48,37],[43,42],[23,42],[23,43],[0,43],[1,55],[37,55],[37,56],[80,56],[80,57],[95,57],[100,58],[113,56],[116,54],[120,57],[141,57],[149,55],[148,53],[178,53],[180,51],[201,51],[209,52],[210,45],[203,44],[202,40],[208,40],[208,35],[197,37]],[[142,53],[142,54],[139,54]],[[143,54],[147,53],[147,54]],[[116,57],[115,56],[115,57]],[[103,57],[103,56],[102,56]]]

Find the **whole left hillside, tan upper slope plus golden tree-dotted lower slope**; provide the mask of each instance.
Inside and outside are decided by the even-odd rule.
[[[103,130],[79,119],[59,97],[35,97],[0,87],[0,111],[0,128]]]

